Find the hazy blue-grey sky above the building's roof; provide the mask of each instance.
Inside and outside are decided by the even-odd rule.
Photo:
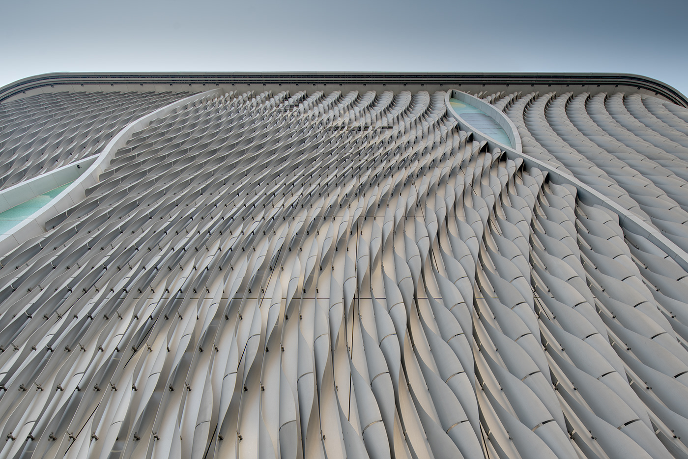
[[[686,0],[0,6],[0,87],[50,72],[605,72],[688,94]]]

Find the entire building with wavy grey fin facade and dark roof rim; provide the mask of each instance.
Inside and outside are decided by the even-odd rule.
[[[0,100],[0,458],[688,458],[670,87],[69,74]]]

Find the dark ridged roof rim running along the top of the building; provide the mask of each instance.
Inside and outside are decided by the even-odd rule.
[[[0,88],[0,102],[41,87],[56,85],[604,85],[645,89],[688,107],[688,98],[676,88],[647,76],[605,73],[526,72],[133,72],[51,73],[30,76]]]

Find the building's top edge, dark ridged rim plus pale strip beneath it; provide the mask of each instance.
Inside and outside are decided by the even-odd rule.
[[[647,76],[604,73],[482,73],[482,72],[135,72],[50,73],[29,76],[0,88],[0,103],[42,92],[58,91],[163,91],[183,89],[204,92],[208,85],[226,90],[291,89],[305,86],[351,90],[443,90],[464,92],[640,92],[688,107],[677,89]],[[297,89],[298,88],[298,89]]]

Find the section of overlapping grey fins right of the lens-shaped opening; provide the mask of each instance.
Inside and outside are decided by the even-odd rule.
[[[524,153],[571,173],[688,249],[688,123],[674,114],[687,117],[685,109],[639,94],[513,99],[506,113]]]

